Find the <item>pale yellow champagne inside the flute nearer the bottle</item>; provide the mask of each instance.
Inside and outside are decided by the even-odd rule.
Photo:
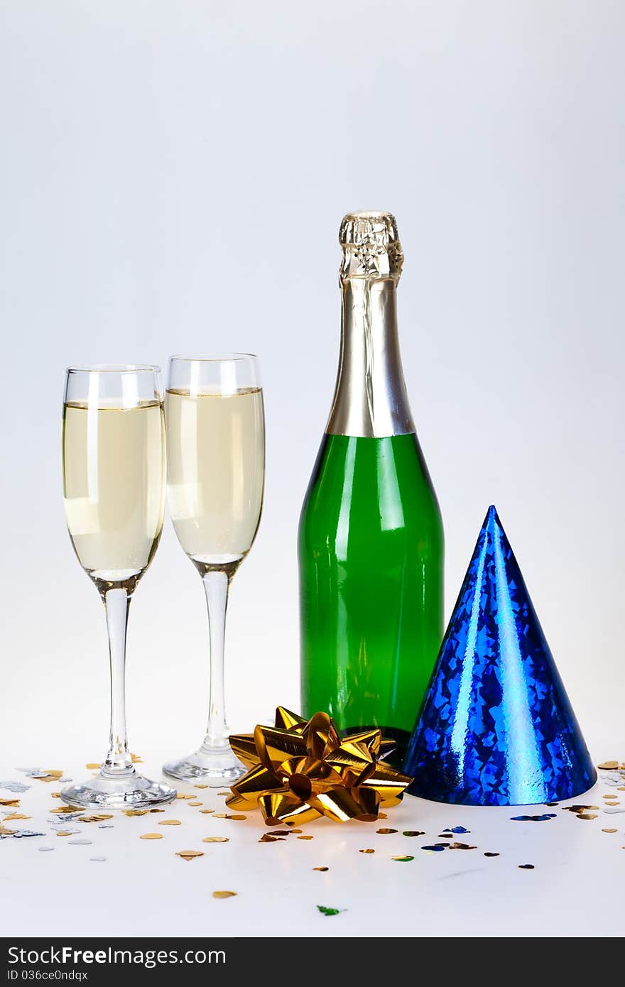
[[[240,562],[263,506],[263,392],[171,390],[165,415],[169,508],[181,545],[200,569]]]

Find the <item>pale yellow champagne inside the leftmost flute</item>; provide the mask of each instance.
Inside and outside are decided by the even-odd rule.
[[[159,402],[63,410],[65,515],[81,566],[132,585],[147,569],[165,507],[165,421]]]

